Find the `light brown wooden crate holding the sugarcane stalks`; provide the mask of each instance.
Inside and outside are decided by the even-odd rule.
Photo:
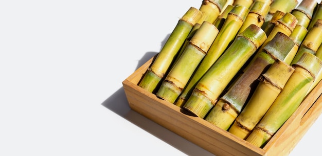
[[[122,82],[131,109],[217,156],[289,155],[322,113],[321,81],[265,147],[259,148],[139,87],[152,61]]]

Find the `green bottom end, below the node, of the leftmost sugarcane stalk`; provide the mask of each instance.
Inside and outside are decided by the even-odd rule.
[[[155,93],[158,89],[159,84],[162,82],[162,78],[158,77],[151,69],[147,70],[147,73],[144,75],[138,86],[144,88],[150,93]]]

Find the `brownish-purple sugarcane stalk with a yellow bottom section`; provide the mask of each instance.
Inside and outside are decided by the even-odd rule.
[[[283,44],[281,44],[283,43]],[[229,90],[220,98],[205,118],[208,122],[227,130],[240,114],[244,104],[253,94],[258,78],[276,59],[283,60],[293,49],[294,41],[279,32],[263,48],[249,68],[235,81]]]

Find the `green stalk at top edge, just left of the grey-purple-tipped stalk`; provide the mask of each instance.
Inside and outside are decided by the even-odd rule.
[[[270,21],[276,11],[290,13],[297,6],[297,4],[297,0],[274,0],[271,4],[269,13],[265,17],[265,21]],[[266,28],[267,22],[263,24],[262,29]]]

